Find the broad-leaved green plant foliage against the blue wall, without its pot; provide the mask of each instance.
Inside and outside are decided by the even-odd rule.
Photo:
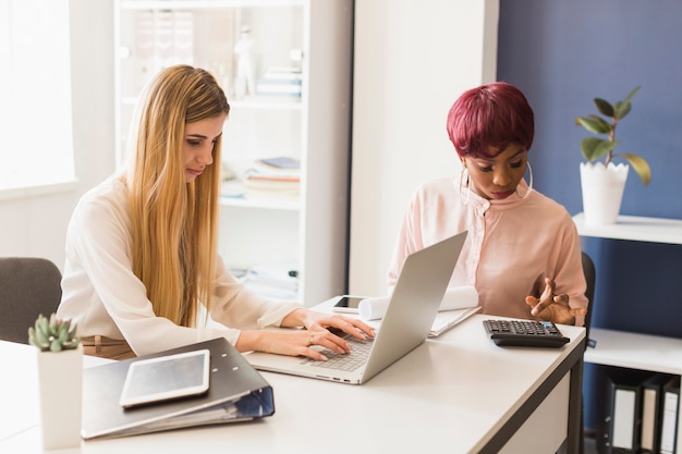
[[[630,165],[637,172],[637,175],[645,185],[649,184],[651,180],[651,169],[644,158],[633,154],[614,154],[613,149],[620,144],[620,140],[616,139],[616,126],[626,114],[630,113],[632,105],[630,100],[640,90],[640,87],[635,87],[628,94],[625,99],[611,105],[601,98],[595,98],[594,102],[597,106],[597,110],[605,118],[599,115],[579,116],[575,119],[575,124],[583,126],[585,130],[593,134],[604,134],[606,138],[599,137],[585,137],[581,142],[581,151],[587,161],[593,162],[601,157],[605,157],[604,165],[608,167],[611,159],[620,157],[625,159]]]

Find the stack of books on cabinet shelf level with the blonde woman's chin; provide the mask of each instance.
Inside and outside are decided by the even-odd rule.
[[[259,159],[246,171],[247,197],[297,197],[301,191],[300,162],[289,157]]]

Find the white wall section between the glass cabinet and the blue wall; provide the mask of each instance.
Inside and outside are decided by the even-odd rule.
[[[498,0],[356,0],[349,291],[385,295],[409,198],[459,175],[446,116],[496,77]]]

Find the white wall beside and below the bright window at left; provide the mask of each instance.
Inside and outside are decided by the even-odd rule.
[[[0,198],[0,256],[64,262],[69,218],[81,195],[113,172],[113,30],[111,0],[71,0],[72,96],[76,175],[64,192]],[[34,121],[34,119],[32,119]],[[36,108],[36,128],[41,118]],[[59,144],[54,144],[59,146]]]

